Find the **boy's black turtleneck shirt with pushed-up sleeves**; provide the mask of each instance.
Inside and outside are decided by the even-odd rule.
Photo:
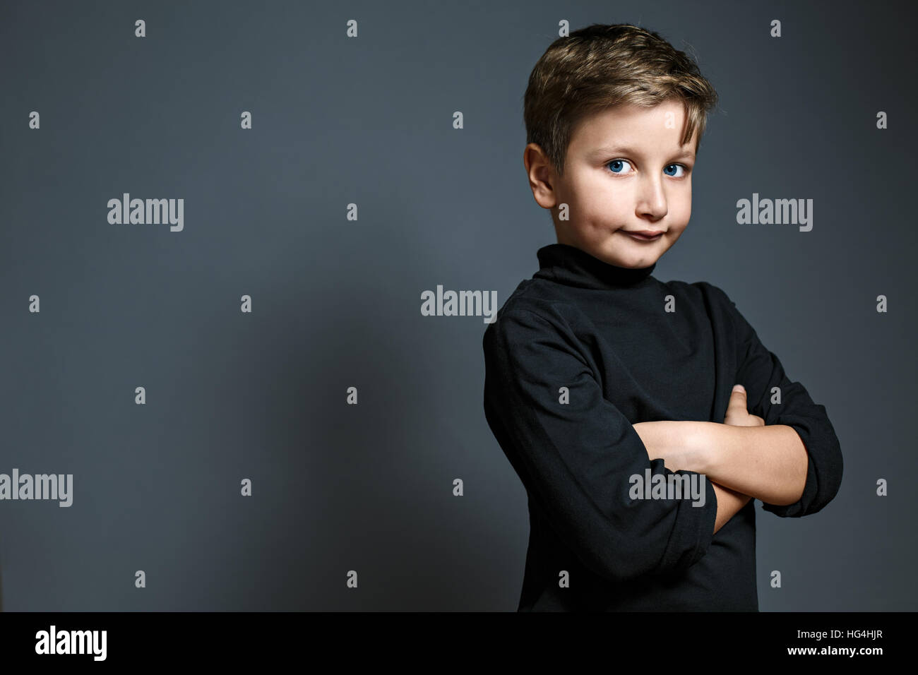
[[[714,534],[717,497],[699,474],[703,506],[633,499],[630,477],[673,472],[650,460],[632,425],[723,423],[742,384],[750,413],[789,425],[806,446],[800,501],[763,504],[799,517],[841,483],[825,408],[720,288],[664,283],[655,264],[619,267],[562,243],[537,256],[539,271],[483,338],[487,423],[529,501],[518,611],[757,611],[755,501]]]

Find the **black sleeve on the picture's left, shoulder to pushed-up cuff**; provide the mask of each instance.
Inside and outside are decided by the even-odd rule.
[[[624,581],[689,568],[711,544],[711,482],[694,474],[703,506],[630,497],[633,475],[673,472],[650,460],[632,424],[603,397],[564,319],[546,313],[505,310],[485,332],[485,414],[501,448],[556,534],[599,576]]]

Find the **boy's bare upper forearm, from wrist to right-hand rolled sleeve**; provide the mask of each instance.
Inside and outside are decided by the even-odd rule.
[[[693,423],[699,432],[693,442],[704,457],[701,473],[712,481],[776,506],[800,499],[809,461],[793,427]]]

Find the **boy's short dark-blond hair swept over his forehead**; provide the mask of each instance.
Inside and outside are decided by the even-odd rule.
[[[657,33],[631,24],[593,24],[558,38],[536,62],[523,96],[526,142],[537,143],[559,175],[577,122],[619,104],[686,108],[682,143],[707,126],[717,92],[698,65]]]

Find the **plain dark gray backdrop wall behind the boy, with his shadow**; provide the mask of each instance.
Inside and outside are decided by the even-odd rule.
[[[74,475],[69,509],[0,501],[4,609],[516,609],[527,506],[485,325],[420,293],[503,304],[555,241],[522,95],[567,19],[699,59],[721,103],[655,276],[726,290],[841,440],[823,512],[756,508],[760,608],[914,610],[905,6],[3,3],[0,472]],[[185,230],[108,224],[123,192],[184,197]],[[812,198],[813,230],[737,225],[754,192]]]

